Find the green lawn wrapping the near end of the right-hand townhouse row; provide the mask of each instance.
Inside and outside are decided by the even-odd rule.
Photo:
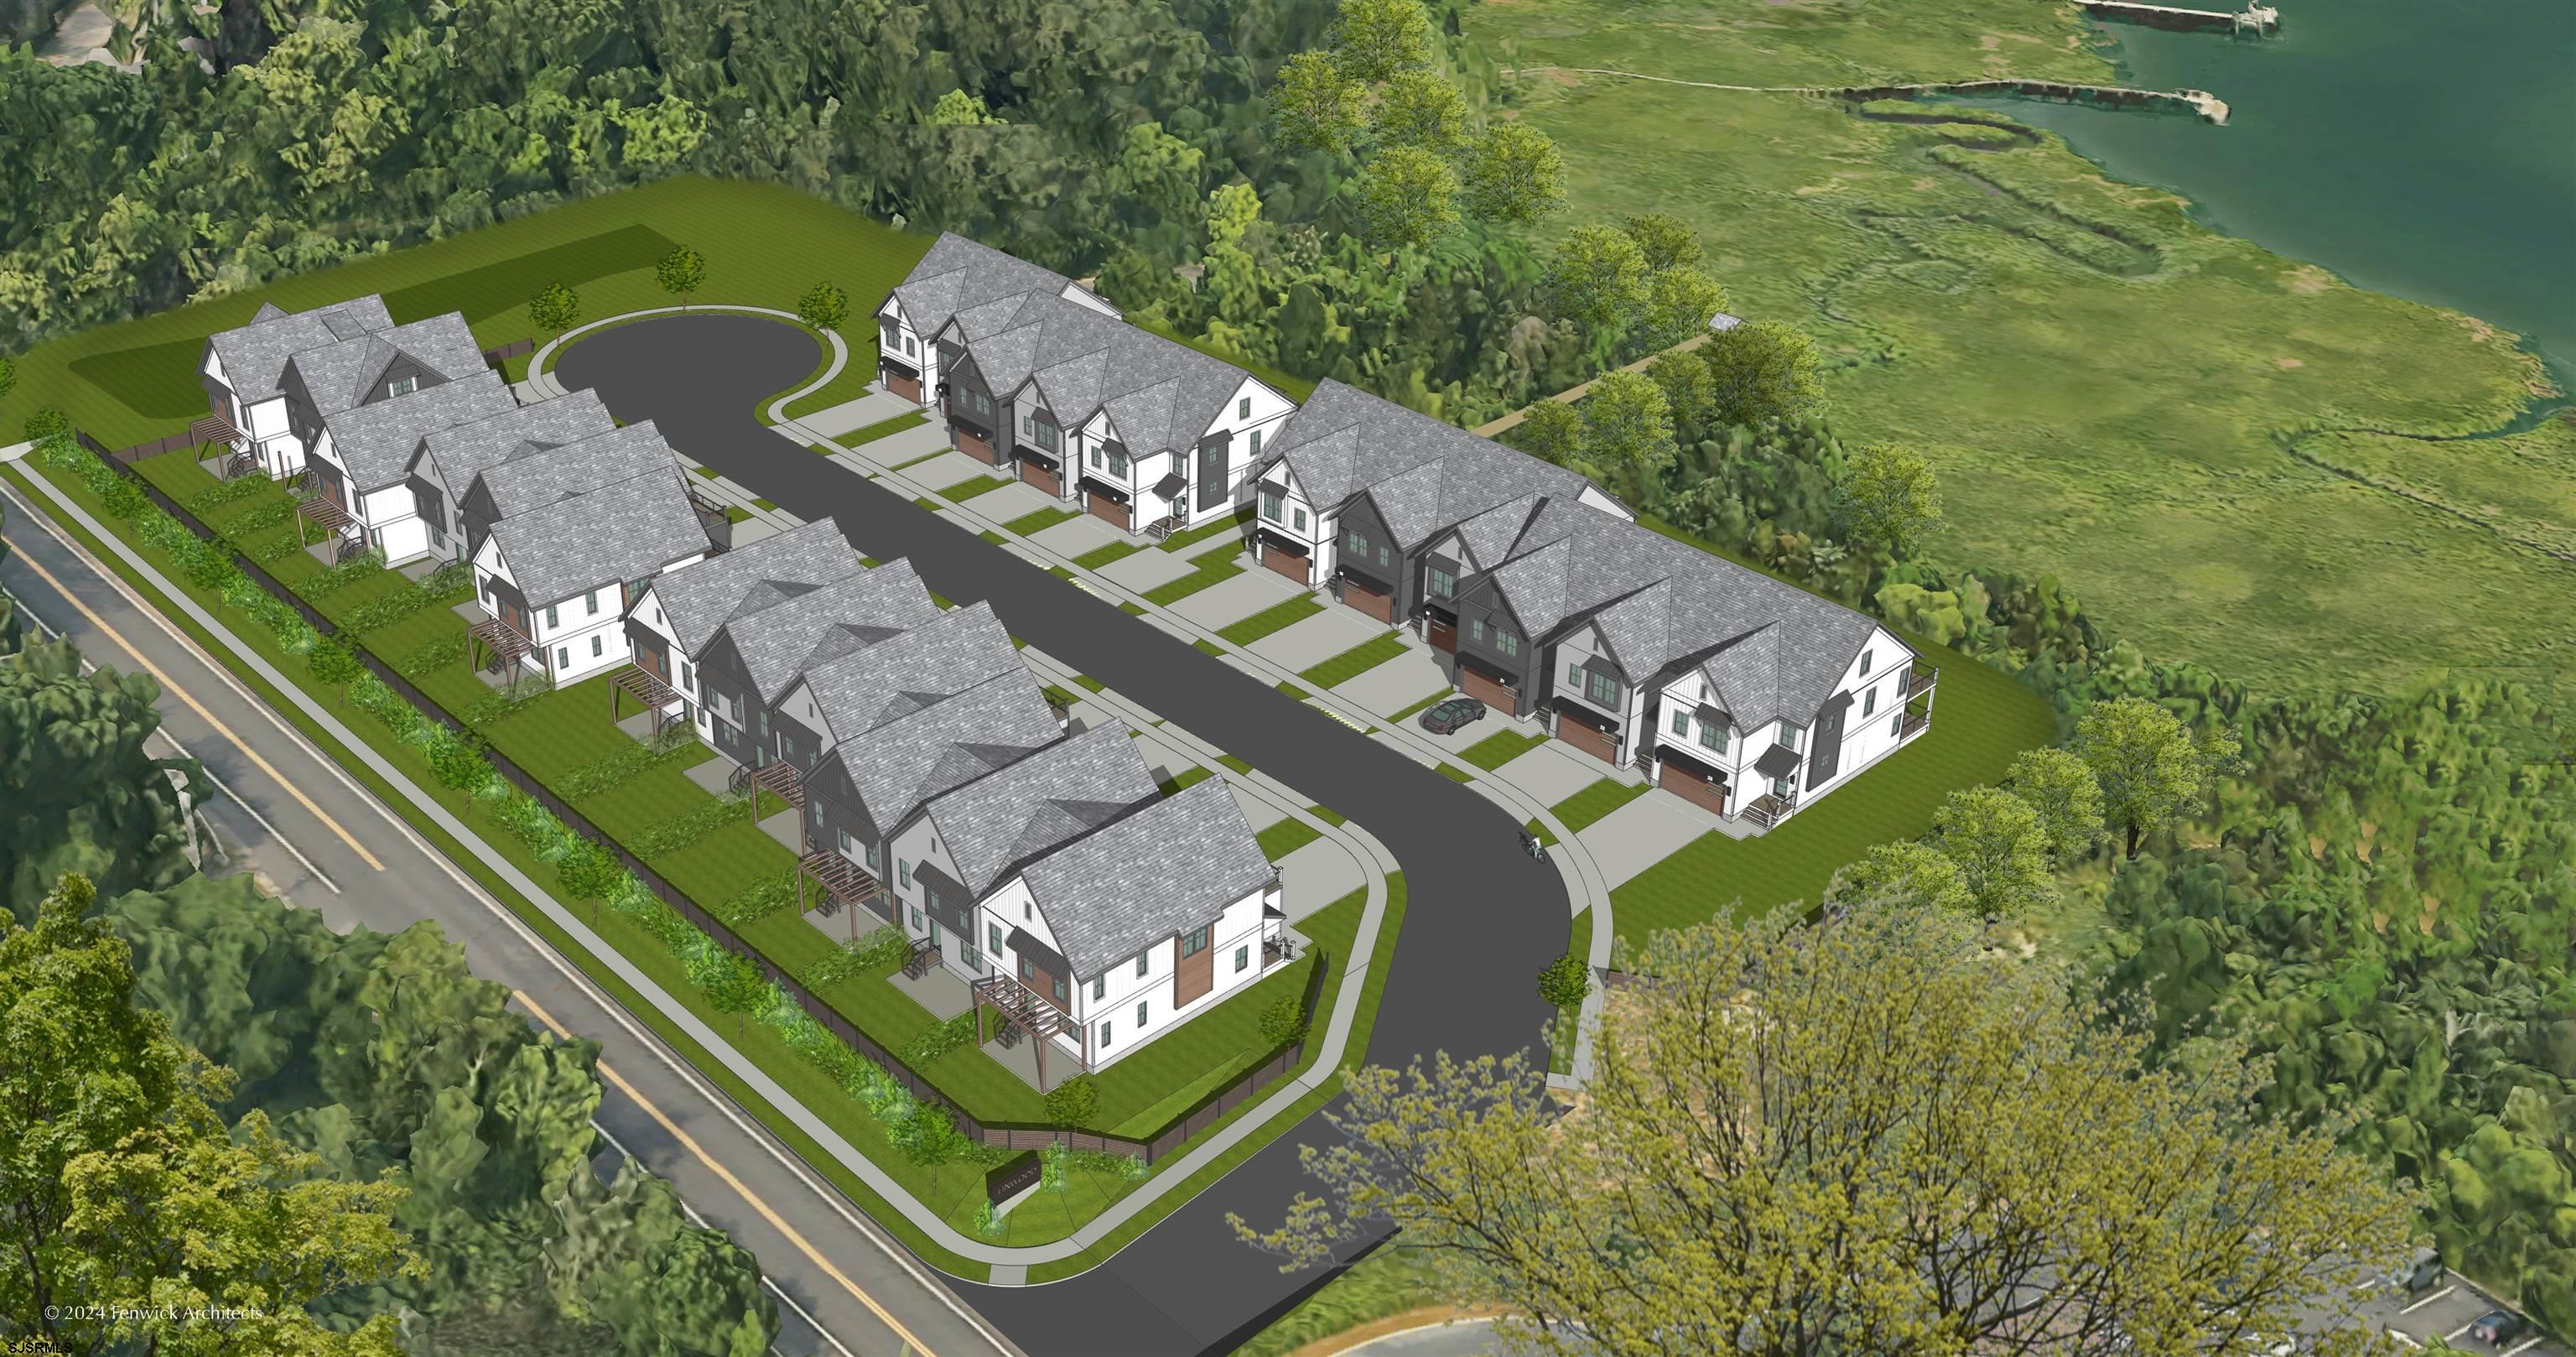
[[[1868,847],[1927,834],[1950,791],[1994,783],[2014,754],[2056,739],[2056,713],[2012,675],[1958,651],[1924,646],[1924,657],[1940,664],[1932,729],[1777,829],[1754,839],[1710,829],[1610,891],[1620,937],[1641,942],[1728,906],[1814,904]]]

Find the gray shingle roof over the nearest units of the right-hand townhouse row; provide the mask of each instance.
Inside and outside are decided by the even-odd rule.
[[[1561,500],[1538,510],[1492,577],[1533,636],[1600,623],[1631,680],[1710,662],[1741,729],[1814,718],[1878,628],[1834,600]]]

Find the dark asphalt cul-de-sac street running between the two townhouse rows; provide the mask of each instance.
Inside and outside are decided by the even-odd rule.
[[[752,412],[817,363],[819,345],[791,324],[690,314],[590,335],[554,376],[595,389],[618,420],[654,420],[683,456],[801,518],[829,512],[863,554],[912,559],[940,595],[992,603],[1028,644],[1368,827],[1406,881],[1368,1061],[1538,1045],[1548,1009],[1535,976],[1566,950],[1569,906],[1556,870],[1520,855],[1510,814],[760,425]],[[1278,1223],[1311,1187],[1298,1141],[1329,1136],[1311,1118],[1079,1277],[961,1293],[1041,1357],[1231,1352],[1319,1277],[1280,1275],[1234,1241],[1226,1213]]]

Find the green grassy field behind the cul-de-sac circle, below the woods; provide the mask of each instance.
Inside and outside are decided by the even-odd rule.
[[[301,312],[379,291],[397,322],[464,312],[487,348],[544,337],[528,324],[528,299],[554,281],[580,294],[582,319],[670,306],[652,265],[672,242],[706,255],[701,301],[793,309],[814,283],[840,283],[853,301],[840,335],[860,384],[876,373],[876,301],[930,250],[930,237],[791,188],[665,180],[31,348],[18,355],[0,443],[15,443],[44,407],[111,448],[188,427],[206,412],[196,384],[206,335],[245,324],[263,301]]]

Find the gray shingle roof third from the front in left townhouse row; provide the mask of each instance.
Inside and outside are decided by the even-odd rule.
[[[1064,734],[1028,669],[994,675],[868,739],[835,744],[868,819],[902,824],[922,801],[1054,744]]]

